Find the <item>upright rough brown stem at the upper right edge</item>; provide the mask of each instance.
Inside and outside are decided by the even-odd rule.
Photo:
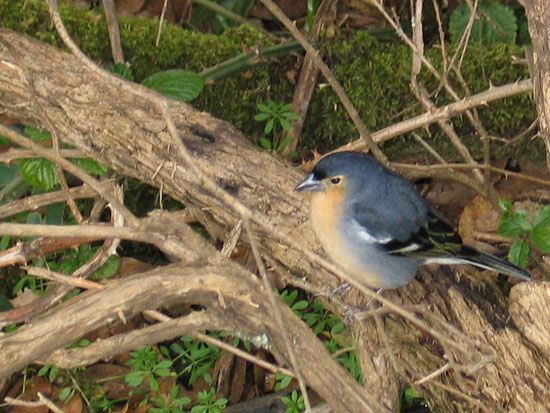
[[[547,0],[520,0],[529,23],[533,43],[529,59],[539,113],[539,128],[546,145],[546,165],[550,169],[550,7]]]

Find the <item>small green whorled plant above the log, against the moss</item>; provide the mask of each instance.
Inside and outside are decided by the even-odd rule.
[[[292,112],[290,103],[277,103],[271,99],[265,103],[258,103],[257,108],[259,112],[254,116],[254,120],[265,122],[265,136],[261,137],[258,142],[260,147],[281,154],[291,142],[292,137],[287,136],[280,140],[280,135],[292,129],[291,122],[298,120],[298,115]]]

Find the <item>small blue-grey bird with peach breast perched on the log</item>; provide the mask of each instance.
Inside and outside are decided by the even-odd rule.
[[[295,190],[313,193],[311,223],[327,255],[369,287],[405,286],[425,264],[471,264],[530,280],[464,245],[410,182],[366,153],[324,157]]]

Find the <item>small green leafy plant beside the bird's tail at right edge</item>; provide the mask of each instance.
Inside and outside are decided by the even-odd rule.
[[[524,209],[513,210],[512,202],[501,199],[502,209],[498,233],[516,241],[508,251],[508,260],[518,267],[525,268],[534,245],[544,254],[550,253],[550,205],[537,211],[531,219]]]

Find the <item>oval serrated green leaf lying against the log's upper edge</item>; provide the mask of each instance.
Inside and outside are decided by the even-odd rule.
[[[204,79],[193,72],[173,69],[155,73],[143,79],[141,84],[164,96],[190,102],[202,92]]]

